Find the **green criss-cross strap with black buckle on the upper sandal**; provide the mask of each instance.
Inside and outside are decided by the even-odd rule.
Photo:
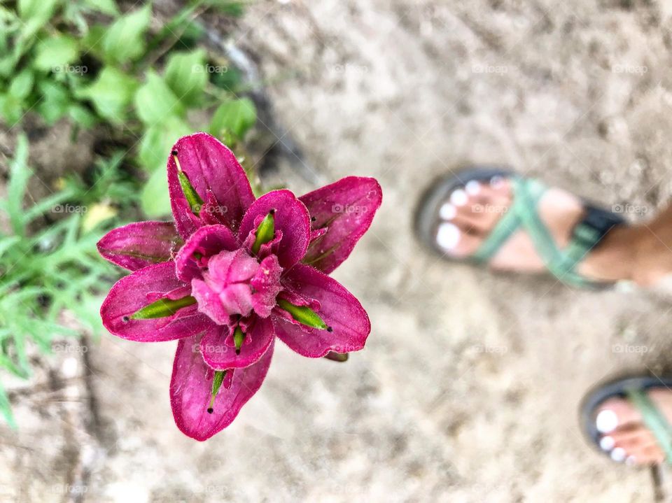
[[[547,187],[538,180],[511,176],[513,202],[484,242],[472,256],[477,262],[489,262],[503,244],[518,229],[524,229],[547,269],[564,283],[576,286],[598,285],[576,272],[607,232],[622,220],[617,215],[593,206],[586,206],[586,215],[575,225],[572,238],[565,248],[559,248],[539,215],[539,200]]]

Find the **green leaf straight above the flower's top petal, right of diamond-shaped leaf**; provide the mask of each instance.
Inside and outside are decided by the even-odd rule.
[[[205,68],[205,50],[175,52],[168,59],[165,81],[186,106],[201,103],[203,91],[208,82]]]

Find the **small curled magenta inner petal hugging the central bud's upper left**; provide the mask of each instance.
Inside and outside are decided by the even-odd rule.
[[[201,276],[199,260],[194,253],[202,257],[211,257],[221,250],[238,248],[235,236],[224,225],[206,225],[190,236],[180,253],[175,257],[175,269],[182,281],[191,281]]]

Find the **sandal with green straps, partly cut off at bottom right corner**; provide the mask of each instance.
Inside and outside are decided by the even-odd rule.
[[[639,410],[644,425],[650,430],[659,447],[665,453],[666,462],[668,465],[672,465],[672,425],[647,395],[649,390],[656,388],[671,389],[672,378],[628,376],[608,381],[588,392],[580,405],[580,423],[589,443],[601,453],[610,455],[600,444],[603,434],[598,430],[596,424],[596,411],[601,404],[610,398],[624,398]]]

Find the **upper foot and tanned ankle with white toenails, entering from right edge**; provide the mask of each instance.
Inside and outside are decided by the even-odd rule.
[[[470,170],[470,176],[461,176],[463,173],[458,178],[465,183],[439,183],[428,192],[417,222],[423,241],[456,259],[478,256],[488,248],[486,241],[491,240],[493,232],[502,232],[498,227],[504,227],[505,215],[521,210],[514,206],[516,187],[510,173],[488,169]],[[576,241],[580,234],[577,229],[587,225],[589,231],[596,230],[598,238],[591,238],[594,241],[584,247],[584,253],[575,255],[572,272],[579,276],[596,282],[632,279],[648,285],[672,271],[672,210],[661,213],[650,225],[615,225],[619,223],[617,215],[589,209],[575,195],[556,188],[544,190],[538,201],[529,206],[533,208],[523,210],[535,211],[547,229],[543,231],[548,234],[546,241],[551,241],[550,246],[561,254],[571,248],[566,248],[570,242]],[[597,229],[591,228],[594,222]],[[549,257],[539,253],[539,236],[531,235],[526,227],[518,225],[498,244],[486,260],[489,267],[519,272],[553,271]],[[542,247],[548,248],[548,243],[541,241]]]

